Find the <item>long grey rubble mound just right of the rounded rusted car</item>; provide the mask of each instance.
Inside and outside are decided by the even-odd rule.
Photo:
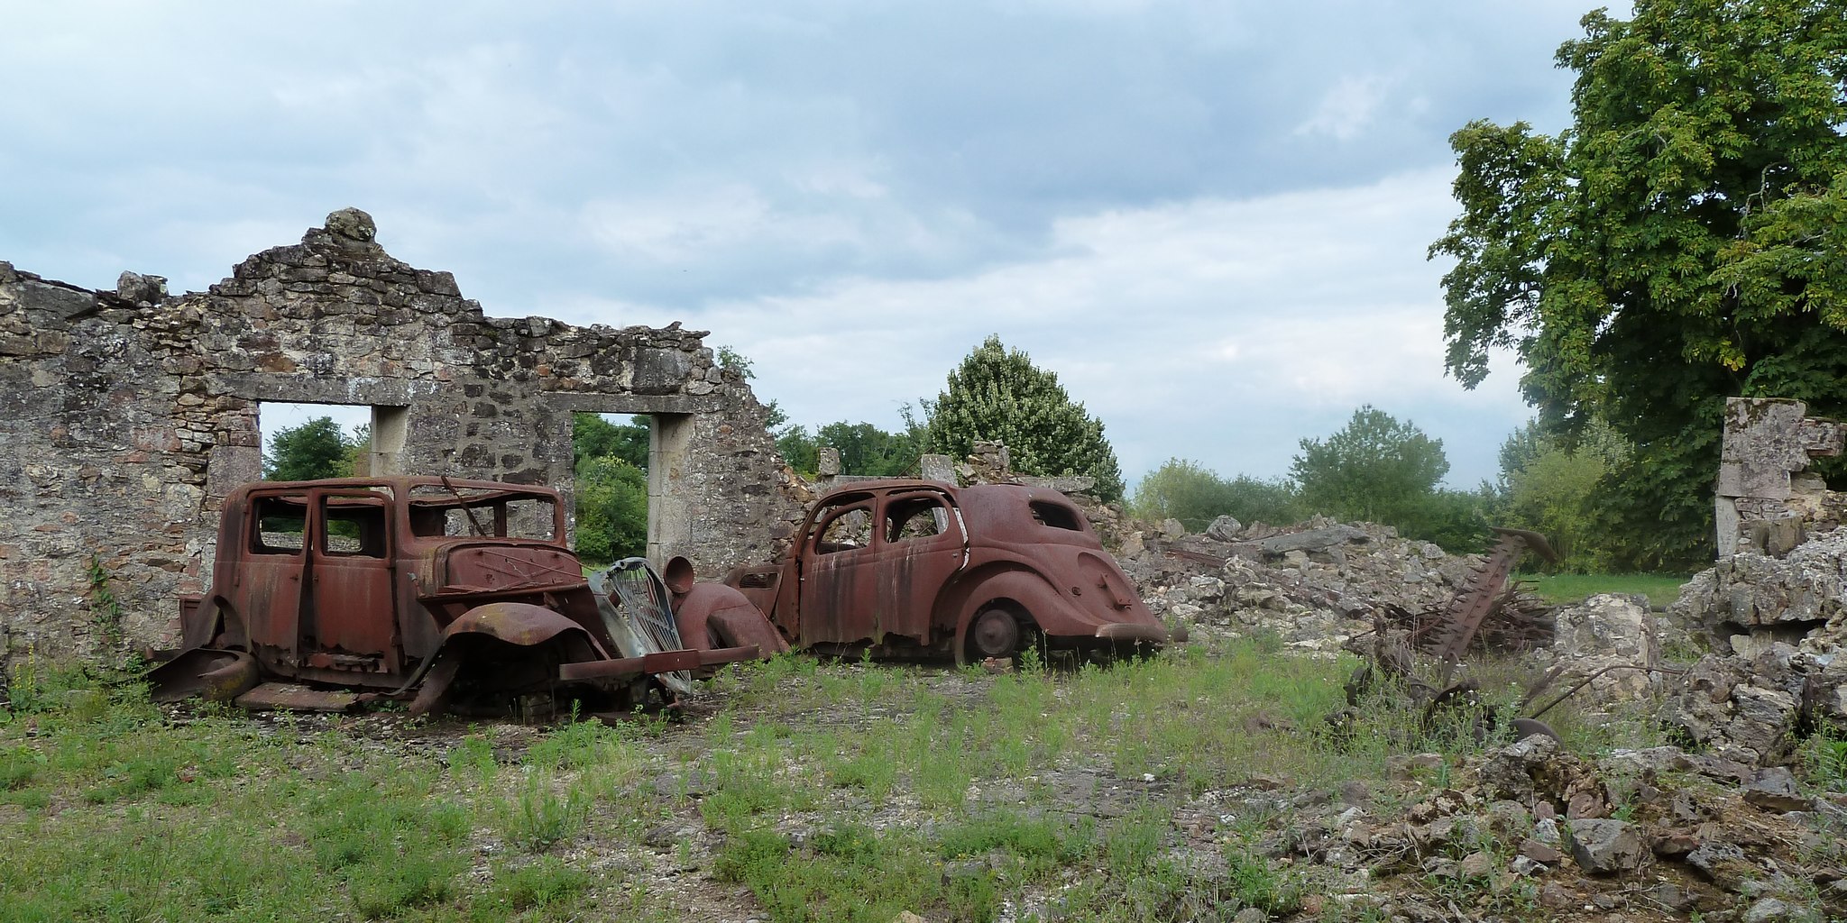
[[[1287,530],[1219,517],[1201,535],[1167,521],[1129,532],[1117,559],[1149,609],[1189,633],[1273,631],[1330,653],[1380,615],[1441,611],[1483,563],[1391,526],[1324,517]]]

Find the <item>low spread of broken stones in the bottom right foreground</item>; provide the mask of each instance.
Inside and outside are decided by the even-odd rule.
[[[1382,788],[1204,792],[1182,820],[1273,818],[1256,851],[1326,895],[1306,901],[1308,912],[1326,901],[1407,921],[1494,919],[1535,905],[1548,917],[1764,923],[1847,912],[1847,805],[1799,794],[1782,768],[1672,746],[1592,761],[1550,737],[1391,762]]]

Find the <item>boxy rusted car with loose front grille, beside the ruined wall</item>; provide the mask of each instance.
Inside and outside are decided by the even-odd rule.
[[[247,707],[338,709],[414,690],[414,713],[626,709],[672,698],[661,674],[759,653],[650,648],[591,580],[547,487],[246,484],[225,498],[211,593],[181,598],[185,646],[153,672],[155,690]]]

